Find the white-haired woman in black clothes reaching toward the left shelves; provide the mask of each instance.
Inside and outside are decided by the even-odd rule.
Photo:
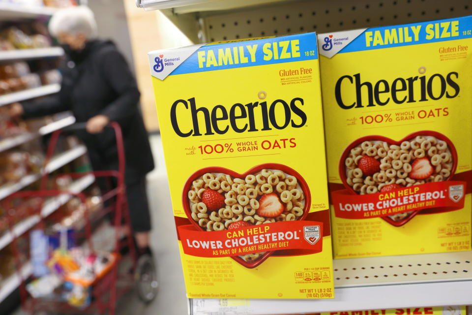
[[[146,174],[154,162],[136,81],[114,43],[96,38],[89,8],[59,10],[51,18],[49,31],[66,55],[60,92],[39,102],[15,103],[11,115],[31,118],[71,110],[78,123],[87,123],[87,131],[79,131],[78,136],[87,146],[94,170],[118,168],[114,131],[105,128],[109,122],[118,122],[124,138],[131,223],[141,253],[150,253]],[[103,188],[104,183],[99,185]]]

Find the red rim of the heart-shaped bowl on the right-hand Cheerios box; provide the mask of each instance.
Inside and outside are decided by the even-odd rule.
[[[392,140],[390,138],[380,136],[380,135],[370,135],[370,136],[361,137],[361,138],[355,140],[354,142],[352,142],[344,150],[343,154],[341,155],[341,159],[339,160],[339,176],[341,177],[341,180],[342,180],[344,186],[348,190],[353,192],[354,194],[357,194],[357,192],[354,191],[354,189],[351,186],[349,186],[348,183],[347,183],[346,166],[344,164],[346,158],[348,158],[348,156],[351,152],[351,149],[358,146],[359,144],[361,144],[364,141],[384,141],[388,144],[400,145],[403,141],[405,141],[405,140],[411,141],[411,140],[413,140],[413,138],[415,138],[418,135],[433,136],[433,137],[437,138],[438,140],[442,140],[442,141],[447,143],[449,151],[451,152],[451,156],[452,156],[453,161],[452,161],[452,168],[451,168],[451,171],[450,171],[450,175],[447,178],[445,178],[444,181],[447,181],[447,180],[451,179],[452,176],[454,176],[454,173],[456,172],[456,167],[457,167],[457,151],[456,151],[456,148],[454,147],[454,144],[452,143],[452,141],[448,137],[446,137],[442,133],[432,131],[432,130],[422,130],[422,131],[416,131],[416,132],[410,133],[409,135],[405,136],[403,139],[401,139],[399,141],[395,141],[395,140]],[[388,223],[394,225],[394,226],[402,226],[405,223],[407,223],[408,221],[412,220],[413,217],[415,215],[417,215],[420,211],[421,210],[413,211],[412,214],[410,214],[408,217],[406,217],[405,219],[400,220],[400,221],[394,221],[390,217],[382,217],[382,219],[387,221]]]

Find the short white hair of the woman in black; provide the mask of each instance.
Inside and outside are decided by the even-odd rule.
[[[49,32],[55,37],[59,33],[83,33],[87,39],[94,39],[97,37],[97,23],[89,7],[72,6],[54,13],[49,21]]]

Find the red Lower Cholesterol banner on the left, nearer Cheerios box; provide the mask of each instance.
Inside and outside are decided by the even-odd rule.
[[[232,230],[202,231],[194,225],[178,226],[183,252],[199,257],[231,257],[256,252],[323,250],[323,223],[283,221]]]

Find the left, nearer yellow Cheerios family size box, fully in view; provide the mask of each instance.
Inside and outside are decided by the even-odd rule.
[[[188,297],[333,298],[316,35],[149,63]]]

